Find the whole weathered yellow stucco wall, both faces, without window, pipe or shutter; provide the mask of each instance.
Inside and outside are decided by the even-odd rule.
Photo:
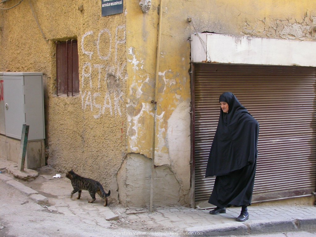
[[[44,73],[48,164],[99,180],[114,202],[131,206],[149,205],[151,159],[154,205],[191,203],[192,33],[316,40],[309,0],[163,1],[157,63],[159,2],[143,13],[139,0],[124,1],[123,13],[106,17],[100,0],[0,9],[0,71]],[[67,39],[78,40],[73,97],[56,96],[55,41]]]

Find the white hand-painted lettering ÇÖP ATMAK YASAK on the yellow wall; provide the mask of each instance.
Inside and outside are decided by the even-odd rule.
[[[96,37],[96,34],[89,31],[81,39],[81,50],[88,56],[88,61],[82,66],[81,74],[82,109],[90,109],[95,119],[101,118],[104,114],[121,116],[120,103],[123,101],[124,93],[120,85],[125,82],[126,63],[119,63],[118,50],[119,46],[126,42],[125,26],[116,27],[113,36],[110,30],[103,29],[98,33],[96,39],[94,37]],[[85,49],[88,40],[96,42],[93,51]],[[107,49],[102,48],[102,42],[104,41],[108,42]],[[114,45],[114,48],[112,48],[112,45]],[[106,53],[104,53],[105,50]],[[100,62],[100,59],[104,61],[104,64],[94,64],[93,56],[98,57],[98,62]]]

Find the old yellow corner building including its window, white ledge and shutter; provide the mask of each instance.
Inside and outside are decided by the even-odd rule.
[[[118,12],[102,16],[111,3]],[[46,164],[99,180],[113,203],[207,200],[225,90],[260,123],[253,200],[310,201],[315,9],[308,0],[4,0],[0,76],[43,73]],[[2,88],[0,155],[16,161]]]

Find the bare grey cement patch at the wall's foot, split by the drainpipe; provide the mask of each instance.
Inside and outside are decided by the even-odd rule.
[[[150,198],[151,160],[140,154],[129,154],[118,172],[119,200],[125,206],[148,207]],[[154,172],[153,203],[155,206],[179,203],[180,184],[167,166]],[[162,198],[163,197],[163,198]]]

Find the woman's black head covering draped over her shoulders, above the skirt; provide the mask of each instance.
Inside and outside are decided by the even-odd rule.
[[[259,123],[231,92],[219,102],[228,103],[228,113],[221,113],[210,149],[205,177],[220,176],[253,164],[257,159]]]

